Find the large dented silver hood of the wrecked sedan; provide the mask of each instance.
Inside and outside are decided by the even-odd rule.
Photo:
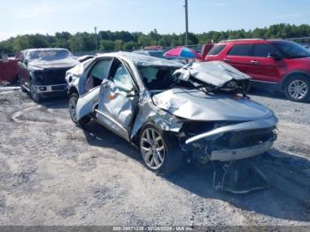
[[[169,89],[152,97],[160,109],[187,120],[249,121],[270,117],[267,107],[229,94],[210,94],[197,89]]]

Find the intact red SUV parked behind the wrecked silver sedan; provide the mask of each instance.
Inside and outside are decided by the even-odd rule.
[[[221,60],[252,77],[255,87],[283,91],[292,101],[310,98],[310,51],[285,40],[245,39],[205,45],[205,61]]]

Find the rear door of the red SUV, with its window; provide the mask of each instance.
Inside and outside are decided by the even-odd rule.
[[[239,71],[253,77],[252,72],[252,49],[253,45],[248,43],[236,43],[228,51],[224,62],[236,67]]]

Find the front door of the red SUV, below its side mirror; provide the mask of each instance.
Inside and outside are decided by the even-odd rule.
[[[281,77],[283,59],[275,60],[269,54],[278,54],[278,50],[269,43],[256,43],[251,58],[252,77],[254,81],[278,82]]]

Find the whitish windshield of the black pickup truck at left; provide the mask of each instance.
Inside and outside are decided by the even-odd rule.
[[[59,59],[73,58],[68,50],[32,50],[27,52],[27,60],[33,61],[53,61]]]

